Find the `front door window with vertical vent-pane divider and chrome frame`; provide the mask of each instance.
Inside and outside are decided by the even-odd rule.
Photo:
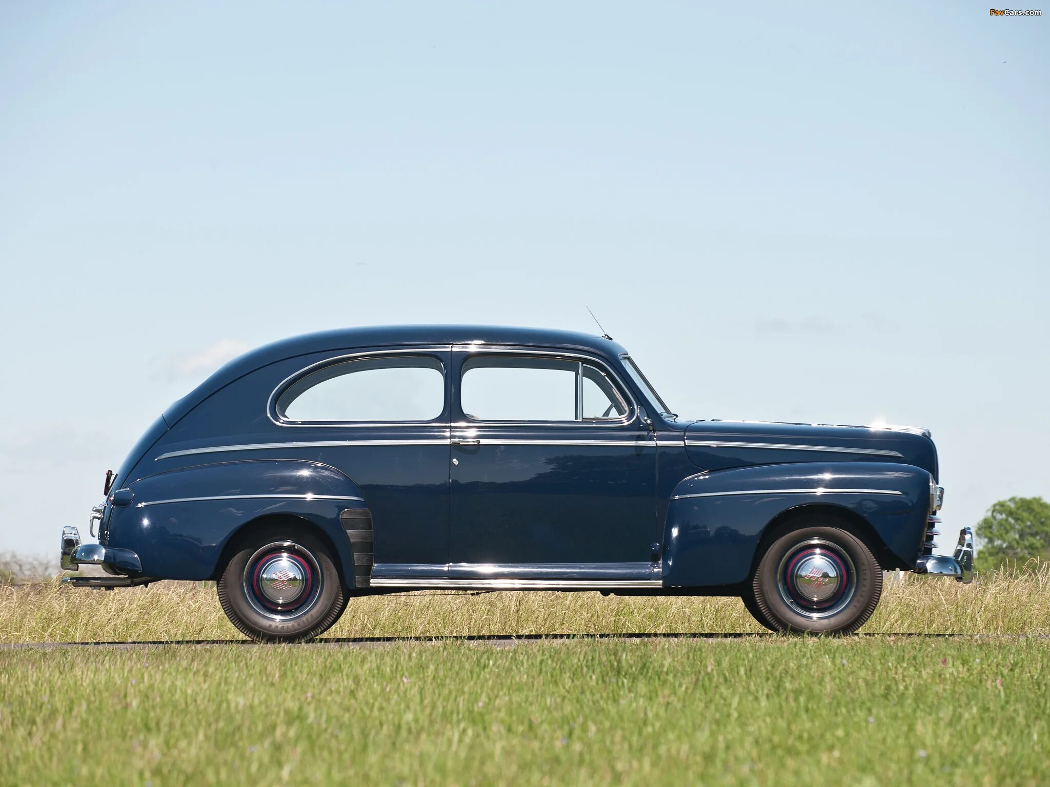
[[[460,402],[474,421],[601,421],[628,411],[616,386],[596,367],[528,356],[466,361]]]

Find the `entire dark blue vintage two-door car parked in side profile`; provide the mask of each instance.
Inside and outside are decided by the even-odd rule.
[[[853,632],[932,554],[937,449],[906,427],[681,421],[609,337],[487,326],[312,334],[231,361],[62,533],[71,577],[215,579],[249,637],[423,588],[735,595],[774,631]]]

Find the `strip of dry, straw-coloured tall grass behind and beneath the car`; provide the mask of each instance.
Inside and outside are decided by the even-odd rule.
[[[764,631],[736,598],[597,593],[418,592],[351,599],[329,637],[680,634]],[[969,586],[905,575],[887,582],[868,634],[1050,634],[1050,563],[980,575]],[[0,642],[234,639],[204,582],[92,591],[0,587]]]

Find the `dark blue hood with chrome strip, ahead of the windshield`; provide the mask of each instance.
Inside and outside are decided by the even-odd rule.
[[[895,462],[938,475],[929,432],[909,426],[694,421],[686,452],[705,470],[788,462]]]

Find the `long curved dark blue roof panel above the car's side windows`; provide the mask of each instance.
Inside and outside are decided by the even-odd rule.
[[[562,347],[615,357],[625,352],[616,342],[593,334],[552,328],[512,327],[505,325],[374,325],[336,328],[293,336],[265,344],[234,358],[164,412],[173,426],[193,407],[234,380],[277,361],[328,350],[404,346],[414,344],[509,344],[534,347]]]

